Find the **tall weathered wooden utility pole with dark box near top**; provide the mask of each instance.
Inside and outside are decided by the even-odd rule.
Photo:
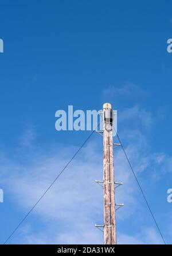
[[[103,105],[104,244],[116,244],[112,106]]]

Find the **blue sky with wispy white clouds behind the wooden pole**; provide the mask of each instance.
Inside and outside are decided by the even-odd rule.
[[[118,110],[118,133],[171,239],[172,3],[1,1],[0,243],[87,138],[55,112]],[[9,243],[102,243],[102,138],[94,134]],[[118,243],[161,243],[123,152],[115,150]]]

